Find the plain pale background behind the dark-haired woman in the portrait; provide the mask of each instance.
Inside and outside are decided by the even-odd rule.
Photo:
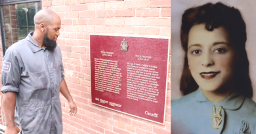
[[[172,0],[171,1],[171,99],[181,97],[179,84],[184,63],[184,51],[181,47],[181,16],[187,8],[197,7],[205,3],[217,3],[218,0]],[[249,76],[253,86],[253,101],[256,102],[256,1],[224,0],[220,1],[240,10],[247,31],[245,44],[249,59]]]

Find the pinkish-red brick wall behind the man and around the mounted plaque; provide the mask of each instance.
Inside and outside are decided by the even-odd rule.
[[[68,103],[60,96],[64,133],[171,133],[171,56],[165,125],[91,104],[89,59],[91,33],[171,37],[171,0],[43,0],[43,8],[53,10],[62,19],[58,45],[66,82],[78,107],[75,117],[68,116]]]

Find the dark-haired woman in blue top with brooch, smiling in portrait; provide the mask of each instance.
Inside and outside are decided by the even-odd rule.
[[[207,3],[184,12],[184,97],[171,101],[172,134],[256,133],[246,38],[234,7]]]

